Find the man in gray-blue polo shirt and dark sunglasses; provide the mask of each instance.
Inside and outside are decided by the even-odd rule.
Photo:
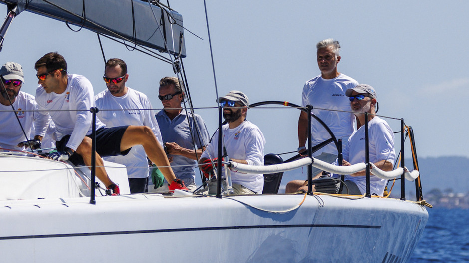
[[[185,92],[176,77],[164,77],[160,80],[158,98],[163,110],[156,114],[166,150],[172,157],[171,166],[178,179],[186,187],[196,190],[194,167],[210,140],[207,126],[198,114],[182,109]],[[197,150],[195,150],[197,149]],[[166,184],[158,188],[165,190]]]

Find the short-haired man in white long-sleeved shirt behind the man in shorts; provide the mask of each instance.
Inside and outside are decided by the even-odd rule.
[[[145,94],[125,85],[129,79],[127,64],[122,59],[109,59],[104,68],[103,78],[107,89],[94,96],[96,107],[99,109],[96,114],[99,120],[106,127],[148,126],[155,134],[158,142],[163,145],[158,123],[151,110],[153,107],[150,100]],[[103,159],[127,167],[130,193],[148,192],[149,168],[147,155],[142,145],[133,146],[127,155],[108,156]]]

